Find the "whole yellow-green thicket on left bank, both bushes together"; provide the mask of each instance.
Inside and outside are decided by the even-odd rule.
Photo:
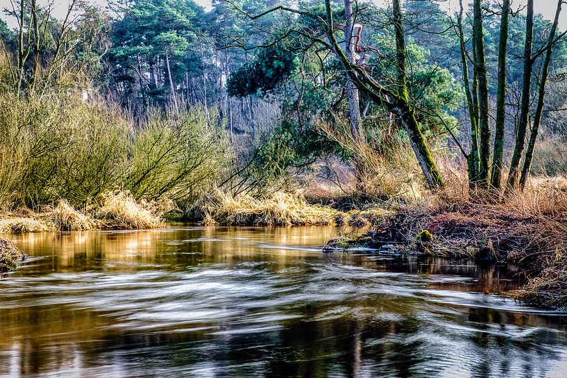
[[[0,96],[0,206],[81,206],[104,191],[196,198],[223,172],[226,143],[202,108],[153,110],[135,127],[78,94]]]

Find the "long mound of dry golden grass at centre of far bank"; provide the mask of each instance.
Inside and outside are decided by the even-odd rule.
[[[303,196],[276,192],[264,198],[232,197],[217,191],[205,196],[192,209],[192,218],[205,224],[223,225],[330,225],[341,213],[330,207],[310,205]]]

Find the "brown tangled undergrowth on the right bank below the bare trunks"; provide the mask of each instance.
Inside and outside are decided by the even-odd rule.
[[[529,281],[514,298],[567,309],[567,180],[535,178],[504,201],[481,198],[448,185],[398,206],[375,232],[421,253],[518,264]]]

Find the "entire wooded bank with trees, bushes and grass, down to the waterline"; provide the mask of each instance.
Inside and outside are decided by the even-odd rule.
[[[370,227],[327,248],[514,261],[567,307],[564,1],[442,3],[10,0],[0,230]]]

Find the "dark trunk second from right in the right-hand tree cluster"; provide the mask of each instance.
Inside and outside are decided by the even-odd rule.
[[[534,0],[527,0],[527,15],[525,24],[524,45],[524,76],[522,85],[522,99],[520,106],[520,121],[516,131],[516,144],[514,154],[510,162],[508,173],[508,189],[514,189],[518,185],[520,161],[524,151],[527,123],[530,121],[530,93],[532,90],[532,71],[534,62],[532,60],[532,44],[534,37]]]

